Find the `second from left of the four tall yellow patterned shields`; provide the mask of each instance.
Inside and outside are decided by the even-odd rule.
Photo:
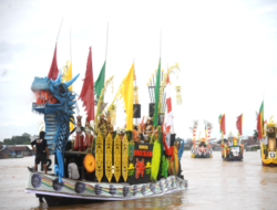
[[[105,139],[105,176],[111,182],[113,178],[113,138],[110,133]]]

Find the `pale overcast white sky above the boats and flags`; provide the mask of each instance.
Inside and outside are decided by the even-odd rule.
[[[146,83],[157,67],[178,62],[183,104],[176,105],[172,90],[174,132],[192,137],[193,120],[214,125],[226,114],[227,133],[236,130],[244,113],[243,133],[253,135],[256,114],[265,101],[265,119],[277,120],[277,2],[275,0],[182,1],[0,1],[0,140],[16,135],[38,134],[42,115],[31,112],[34,76],[48,75],[58,40],[58,66],[70,59],[72,32],[73,75],[81,73],[73,91],[81,92],[89,46],[92,46],[94,80],[105,60],[106,78],[114,75],[113,94],[135,62],[142,115],[147,115]],[[162,30],[162,48],[160,36]],[[79,102],[81,106],[81,102]],[[117,126],[124,125],[117,103]],[[81,114],[83,112],[81,111]],[[197,135],[198,135],[197,132]]]

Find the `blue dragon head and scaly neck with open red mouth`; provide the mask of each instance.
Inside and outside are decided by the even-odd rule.
[[[35,103],[32,104],[33,112],[44,114],[45,139],[50,154],[64,151],[69,138],[69,123],[74,123],[75,95],[69,86],[78,78],[79,74],[71,81],[62,83],[61,75],[53,81],[49,77],[34,77],[31,90],[35,94]]]

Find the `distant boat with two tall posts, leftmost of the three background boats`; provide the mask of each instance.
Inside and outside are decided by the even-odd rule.
[[[197,122],[194,122],[193,126],[193,146],[191,149],[191,157],[192,158],[212,158],[213,157],[213,149],[211,147],[211,129],[212,124],[208,122],[205,123],[205,137],[201,138],[201,133],[198,140],[196,141],[196,130],[197,130]]]

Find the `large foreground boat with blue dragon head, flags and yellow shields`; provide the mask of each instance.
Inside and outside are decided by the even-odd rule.
[[[95,200],[138,199],[187,188],[187,180],[184,179],[181,168],[184,143],[176,144],[175,134],[165,129],[170,123],[162,126],[161,120],[163,116],[161,107],[164,107],[163,102],[165,102],[163,84],[171,71],[161,74],[160,62],[155,73],[156,82],[148,85],[151,90],[155,90],[151,95],[155,95],[154,103],[150,105],[150,115],[153,116],[155,129],[146,133],[143,129],[143,120],[133,126],[133,119],[141,117],[141,105],[135,99],[137,86],[134,85],[134,64],[105,111],[104,93],[113,76],[105,81],[104,62],[98,80],[93,82],[90,49],[80,94],[88,115],[86,125],[82,127],[82,117],[78,116],[75,124],[73,116],[78,104],[72,84],[79,74],[72,78],[70,64],[62,76],[57,67],[55,54],[57,49],[49,75],[35,77],[31,86],[37,98],[32,109],[44,115],[45,139],[50,153],[48,174],[42,171],[42,166],[39,167],[39,171],[30,170],[25,192],[44,198],[48,206],[60,206]],[[163,75],[162,81],[161,75]],[[113,130],[116,117],[114,102],[119,97],[123,98],[126,127]],[[96,104],[95,116],[94,104]],[[105,120],[103,117],[107,113],[110,119]],[[72,125],[74,129],[70,132]],[[135,127],[138,127],[138,132]],[[73,132],[75,139],[70,141],[69,137]],[[69,178],[66,169],[72,158],[80,174],[76,180]]]

